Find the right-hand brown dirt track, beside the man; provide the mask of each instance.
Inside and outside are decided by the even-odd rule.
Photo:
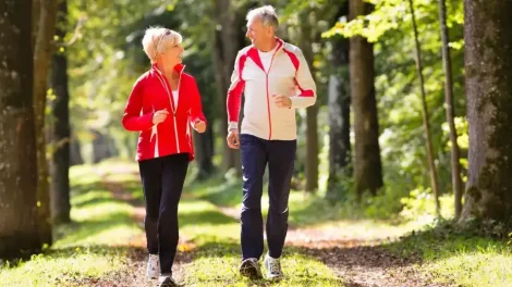
[[[240,210],[218,207],[223,214],[240,221]],[[296,228],[291,225],[287,246],[319,259],[331,267],[348,287],[441,287],[432,278],[418,272],[418,258],[404,259],[385,250],[381,245],[388,239],[346,238],[341,227],[326,229]]]

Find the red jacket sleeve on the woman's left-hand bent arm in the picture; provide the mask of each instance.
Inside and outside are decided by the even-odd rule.
[[[141,114],[143,109],[144,78],[135,82],[124,108],[122,124],[126,130],[141,132],[153,127],[153,112]]]

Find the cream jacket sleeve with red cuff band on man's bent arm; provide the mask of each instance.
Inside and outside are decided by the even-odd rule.
[[[306,59],[302,51],[297,48],[295,55],[298,60],[298,67],[295,74],[295,84],[300,90],[297,96],[290,97],[293,109],[307,108],[316,102],[316,84],[313,79],[312,72],[307,65]]]

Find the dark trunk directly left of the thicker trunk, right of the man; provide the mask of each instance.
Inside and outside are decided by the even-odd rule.
[[[334,73],[329,77],[329,178],[327,198],[338,200],[341,180],[351,174],[350,144],[350,82],[349,82],[349,40],[338,37],[332,40],[332,66]]]

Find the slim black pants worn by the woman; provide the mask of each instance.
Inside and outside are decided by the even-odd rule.
[[[139,161],[138,167],[146,204],[147,250],[159,254],[160,273],[171,274],[179,239],[178,203],[188,167],[188,153]]]

